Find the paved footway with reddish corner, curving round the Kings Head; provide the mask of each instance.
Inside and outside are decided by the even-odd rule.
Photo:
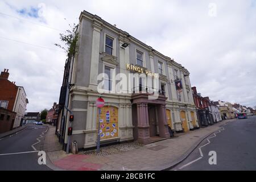
[[[222,125],[237,119],[224,120],[212,126],[187,133],[176,134],[171,139],[144,145],[131,151],[110,155],[65,154],[56,149],[57,137],[55,127],[49,127],[46,133],[47,162],[53,170],[75,171],[159,171],[175,167],[183,162],[189,154],[209,135],[221,129]],[[49,136],[49,137],[48,137]],[[51,137],[50,137],[51,136]]]

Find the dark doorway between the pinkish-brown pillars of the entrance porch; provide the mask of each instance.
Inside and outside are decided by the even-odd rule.
[[[157,135],[157,121],[156,121],[156,107],[154,105],[148,105],[148,120],[150,125],[150,137]]]

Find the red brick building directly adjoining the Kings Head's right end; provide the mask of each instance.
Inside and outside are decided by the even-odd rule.
[[[202,97],[197,93],[196,86],[191,88],[193,90],[193,98],[197,108],[197,116],[201,126],[207,126],[213,123],[213,119],[209,113],[209,97]]]

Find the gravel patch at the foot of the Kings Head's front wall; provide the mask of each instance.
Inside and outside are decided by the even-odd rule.
[[[79,154],[85,155],[110,155],[110,154],[117,154],[120,152],[131,151],[137,148],[141,148],[143,144],[138,142],[130,142],[130,143],[122,143],[122,144],[114,144],[110,146],[105,146],[100,148],[100,152],[96,154],[95,150],[88,150],[88,151],[81,151]]]

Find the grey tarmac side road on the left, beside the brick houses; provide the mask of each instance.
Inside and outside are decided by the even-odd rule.
[[[20,130],[22,129],[22,130]],[[49,171],[39,164],[39,147],[48,127],[27,124],[18,130],[11,130],[0,139],[0,171]]]

